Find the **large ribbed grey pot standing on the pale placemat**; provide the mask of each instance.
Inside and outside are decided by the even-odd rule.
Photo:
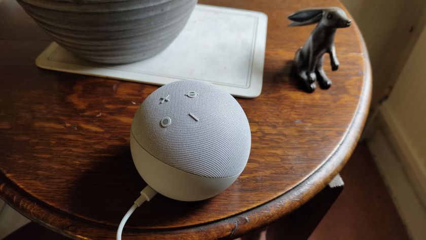
[[[197,0],[17,0],[62,47],[111,64],[164,50],[185,27]]]

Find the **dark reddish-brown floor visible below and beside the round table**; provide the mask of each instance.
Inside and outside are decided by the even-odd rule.
[[[365,144],[357,146],[340,175],[345,182],[343,191],[309,240],[409,239]],[[40,229],[37,224],[29,224],[5,240],[65,239]],[[265,239],[264,232],[261,239]]]

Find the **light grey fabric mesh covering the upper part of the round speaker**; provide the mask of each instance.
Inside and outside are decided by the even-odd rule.
[[[185,95],[189,91],[198,95],[190,98]],[[160,123],[164,117],[171,120],[167,127]],[[208,178],[241,173],[251,148],[250,126],[241,106],[229,93],[201,81],[177,81],[155,90],[138,108],[132,133],[162,162]]]

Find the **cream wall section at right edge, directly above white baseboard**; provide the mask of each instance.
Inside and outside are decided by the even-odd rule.
[[[389,97],[380,106],[383,121],[420,186],[426,203],[426,26]]]

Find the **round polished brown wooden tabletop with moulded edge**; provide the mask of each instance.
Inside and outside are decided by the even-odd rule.
[[[250,159],[214,198],[156,196],[130,218],[124,239],[231,239],[265,226],[328,184],[364,126],[371,73],[356,24],[337,31],[340,68],[331,73],[326,59],[329,90],[305,93],[289,77],[294,52],[313,26],[288,27],[286,16],[306,7],[342,7],[337,0],[199,2],[269,17],[262,94],[237,99],[251,125]],[[115,239],[146,185],[130,156],[130,123],[157,86],[39,69],[34,59],[50,43],[45,33],[11,0],[0,4],[0,22],[1,197],[64,235]]]

